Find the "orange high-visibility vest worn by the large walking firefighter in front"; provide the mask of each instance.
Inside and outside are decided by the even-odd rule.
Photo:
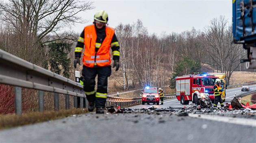
[[[115,31],[107,25],[105,31],[106,37],[98,49],[98,52],[95,53],[95,43],[97,39],[95,26],[89,25],[85,27],[85,51],[82,59],[85,66],[94,67],[97,65],[99,67],[104,67],[110,65],[110,45]]]

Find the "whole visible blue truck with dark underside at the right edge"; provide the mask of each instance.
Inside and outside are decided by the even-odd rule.
[[[232,33],[236,44],[243,44],[247,50],[247,69],[256,68],[256,0],[232,0]]]

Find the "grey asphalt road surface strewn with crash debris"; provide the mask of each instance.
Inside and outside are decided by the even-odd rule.
[[[256,88],[256,86],[250,86]],[[241,93],[241,88],[228,89],[227,97]],[[227,99],[230,102],[232,99]],[[149,108],[153,105],[137,105]],[[159,106],[159,107],[158,107]],[[193,106],[192,103],[186,106]],[[184,107],[169,99],[157,108]],[[127,114],[73,115],[0,131],[0,143],[255,143],[256,120],[172,112],[132,111]]]

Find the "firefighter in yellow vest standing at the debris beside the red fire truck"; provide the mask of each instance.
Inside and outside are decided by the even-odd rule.
[[[221,86],[219,84],[220,84],[220,79],[217,78],[215,80],[215,85],[213,86],[213,89],[214,89],[214,103],[213,103],[213,106],[214,107],[217,107],[218,102],[220,103],[221,107],[224,107],[223,101],[221,99],[221,93],[224,90],[221,89]]]

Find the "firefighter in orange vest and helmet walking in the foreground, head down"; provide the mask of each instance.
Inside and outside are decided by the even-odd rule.
[[[115,36],[115,29],[106,25],[108,14],[98,11],[94,15],[92,25],[86,26],[76,44],[74,67],[80,65],[80,57],[84,49],[82,62],[82,76],[84,76],[84,90],[89,101],[88,110],[104,114],[107,97],[108,76],[111,75],[111,55],[113,54],[113,67],[119,69],[119,44]],[[95,77],[98,75],[98,88],[95,90]]]

